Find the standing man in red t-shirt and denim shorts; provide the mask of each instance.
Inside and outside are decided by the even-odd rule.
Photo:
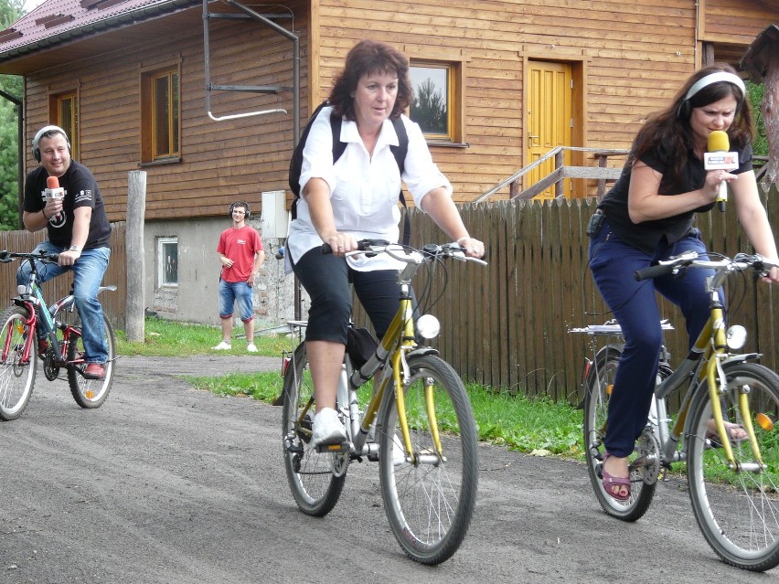
[[[222,321],[222,342],[213,347],[217,351],[232,347],[232,311],[238,303],[240,320],[246,333],[246,350],[256,353],[254,346],[254,310],[252,296],[254,281],[265,260],[262,240],[255,228],[246,224],[251,215],[248,203],[236,201],[229,206],[232,227],[219,236],[217,253],[222,262],[219,276],[219,318]]]

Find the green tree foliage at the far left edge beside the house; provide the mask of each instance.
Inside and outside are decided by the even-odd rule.
[[[24,12],[24,0],[0,0],[0,30],[13,25]],[[0,75],[0,90],[22,99],[22,78]],[[0,96],[0,230],[19,225],[18,118],[12,101]]]

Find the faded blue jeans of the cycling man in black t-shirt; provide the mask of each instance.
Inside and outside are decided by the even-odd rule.
[[[67,247],[54,245],[50,241],[41,241],[34,252],[60,253]],[[109,248],[83,250],[81,256],[72,266],[60,266],[56,263],[36,262],[40,282],[52,280],[66,271],[73,271],[73,296],[76,299],[76,309],[81,319],[81,340],[84,342],[84,360],[87,363],[105,363],[108,360],[108,347],[104,342],[104,326],[102,323],[102,306],[98,302],[97,293],[102,277],[108,269],[111,258]],[[27,285],[30,266],[26,261],[16,271],[16,284]]]

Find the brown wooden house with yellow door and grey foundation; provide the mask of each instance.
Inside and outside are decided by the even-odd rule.
[[[0,31],[0,73],[25,78],[24,143],[66,128],[112,220],[125,218],[128,173],[146,172],[147,297],[216,322],[229,204],[259,218],[261,193],[289,203],[295,136],[358,39],[411,58],[417,94],[432,97],[411,117],[468,202],[555,146],[571,147],[570,165],[627,148],[693,70],[738,65],[777,21],[776,0],[48,0]],[[593,188],[571,181],[566,196]]]

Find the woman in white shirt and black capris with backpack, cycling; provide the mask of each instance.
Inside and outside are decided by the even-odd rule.
[[[398,310],[402,264],[386,254],[346,254],[357,250],[358,239],[398,241],[400,181],[415,205],[468,255],[484,255],[484,244],[469,235],[454,206],[452,185],[432,162],[422,130],[402,115],[412,99],[408,58],[385,43],[360,41],[336,79],[331,105],[319,112],[305,141],[301,198],[286,257],[311,298],[305,342],[316,402],[314,445],[346,439],[335,407],[352,313],[349,283],[379,338]],[[340,140],[347,144],[335,164],[331,114],[342,118]],[[400,143],[390,120],[399,118],[408,134],[402,175],[390,150]],[[323,242],[332,255],[322,253]]]

